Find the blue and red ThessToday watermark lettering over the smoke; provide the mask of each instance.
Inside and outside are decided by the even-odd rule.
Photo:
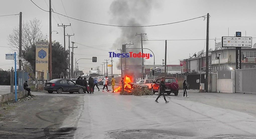
[[[146,59],[149,59],[150,57],[153,57],[151,54],[149,53],[133,53],[133,52],[129,52],[129,53],[115,53],[115,52],[109,52],[109,57],[143,57]]]

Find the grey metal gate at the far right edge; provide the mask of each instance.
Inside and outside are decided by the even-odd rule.
[[[256,94],[256,69],[236,69],[235,86],[238,93]]]

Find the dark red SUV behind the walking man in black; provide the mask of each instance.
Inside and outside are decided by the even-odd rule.
[[[155,94],[155,92],[158,92],[159,94],[159,83],[162,80],[162,77],[158,78],[156,80],[156,82],[154,82],[154,84],[152,85],[153,88],[153,94]],[[176,80],[176,78],[174,77],[165,77],[165,86],[167,87],[164,90],[164,93],[167,93],[168,95],[171,93],[174,93],[174,95],[178,95],[179,93],[179,84],[178,81]]]

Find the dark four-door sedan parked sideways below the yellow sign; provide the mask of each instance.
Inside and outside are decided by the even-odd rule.
[[[72,94],[78,92],[82,94],[85,91],[85,87],[69,79],[53,79],[45,83],[44,90],[48,91],[48,93],[57,92],[60,94],[62,92],[69,92]]]

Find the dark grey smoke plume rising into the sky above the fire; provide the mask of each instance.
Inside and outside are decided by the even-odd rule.
[[[110,5],[110,13],[112,14],[111,23],[120,26],[142,26],[148,25],[152,6],[154,5],[152,0],[141,1],[141,0],[115,0]],[[146,33],[145,27],[119,27],[121,29],[121,35],[116,39],[114,50],[122,48],[122,44],[128,41],[134,41],[134,45],[127,45],[129,48],[141,48],[141,33]],[[146,48],[145,41],[143,41],[143,48]],[[141,49],[126,49],[126,52],[141,52]],[[144,52],[144,51],[143,51]],[[145,58],[144,58],[145,60]],[[125,59],[122,58],[124,65]],[[126,58],[126,65],[141,65],[142,58]],[[121,58],[117,66],[121,66]],[[129,71],[137,73],[141,72],[140,69],[129,69]]]

